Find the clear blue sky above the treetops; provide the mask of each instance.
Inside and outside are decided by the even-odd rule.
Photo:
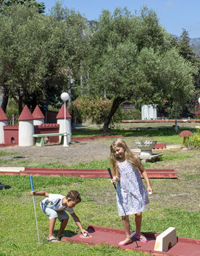
[[[38,2],[44,2],[46,13],[55,4],[55,0]],[[116,7],[127,7],[135,13],[146,6],[157,13],[159,23],[169,33],[180,36],[185,28],[191,39],[200,37],[200,0],[63,0],[62,3],[88,20],[98,20],[104,9],[113,12]]]

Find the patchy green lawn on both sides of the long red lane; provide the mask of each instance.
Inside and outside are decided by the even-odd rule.
[[[129,139],[128,132],[126,135]],[[146,131],[143,131],[146,132]],[[148,131],[149,137],[162,143],[166,138],[167,143],[180,144],[182,139],[163,131]],[[81,132],[79,132],[80,135]],[[79,136],[78,135],[78,136]],[[147,135],[147,133],[146,133]],[[83,134],[82,134],[83,136]],[[139,134],[141,137],[141,132]],[[133,137],[133,132],[132,132]],[[9,154],[9,153],[8,153]],[[154,194],[149,196],[148,210],[143,213],[143,232],[161,233],[169,227],[175,227],[177,235],[192,239],[200,239],[199,223],[199,197],[200,197],[200,169],[199,151],[165,151],[162,158],[156,163],[145,164],[147,168],[172,167],[178,172],[178,180],[151,180]],[[7,152],[1,151],[1,163],[7,157]],[[16,161],[16,160],[15,160]],[[98,168],[104,169],[109,165],[109,159],[97,161],[91,159],[88,163],[77,162],[71,168]],[[2,166],[2,165],[1,165]],[[52,162],[41,167],[66,167],[59,162]],[[0,191],[0,256],[9,255],[145,255],[140,252],[128,252],[102,244],[89,247],[81,244],[57,243],[50,244],[46,241],[48,234],[48,217],[40,209],[41,196],[36,196],[36,212],[38,228],[43,245],[38,245],[36,220],[33,199],[30,196],[30,180],[28,176],[1,175],[0,182],[12,188]],[[109,228],[122,228],[122,222],[117,215],[116,195],[109,179],[105,178],[80,178],[80,177],[50,177],[33,176],[33,186],[36,191],[47,191],[66,195],[70,190],[78,190],[82,202],[75,207],[75,212],[80,217],[83,228],[88,225],[102,225]],[[130,218],[134,228],[133,217]],[[57,221],[55,231],[59,229]],[[65,235],[72,236],[78,228],[70,217],[65,230]]]

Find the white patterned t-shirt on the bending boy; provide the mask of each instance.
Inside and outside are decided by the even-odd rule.
[[[64,196],[58,194],[58,193],[49,193],[49,197],[46,197],[46,199],[43,199],[41,201],[41,204],[43,204],[43,207],[48,207],[51,209],[54,209],[55,211],[67,211],[70,212],[70,214],[74,213],[73,208],[68,208],[62,205],[62,199],[64,199]]]

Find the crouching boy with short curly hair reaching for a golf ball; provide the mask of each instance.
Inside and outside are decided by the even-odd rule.
[[[54,225],[56,223],[57,217],[61,222],[57,236],[59,240],[62,239],[64,228],[66,227],[67,222],[69,220],[69,215],[67,215],[67,212],[70,212],[73,220],[78,225],[78,228],[80,228],[80,231],[82,233],[88,234],[88,232],[82,228],[82,225],[80,224],[80,220],[78,216],[75,215],[75,212],[73,209],[73,207],[75,207],[75,205],[79,204],[81,201],[80,194],[78,193],[78,191],[70,191],[69,193],[67,193],[67,196],[62,196],[57,193],[46,193],[44,191],[41,191],[41,192],[30,191],[30,195],[33,195],[33,194],[35,196],[46,196],[46,199],[43,199],[41,201],[41,209],[46,215],[49,216],[48,241],[51,241],[51,242],[58,241],[54,237],[54,233],[53,233]]]

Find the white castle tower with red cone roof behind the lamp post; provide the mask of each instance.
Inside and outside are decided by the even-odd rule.
[[[67,108],[66,108],[66,123],[65,123],[66,131],[64,131],[64,104],[62,104],[62,107],[60,108],[59,113],[57,114],[57,124],[59,124],[60,133],[62,132],[70,133],[70,135],[67,135],[68,143],[72,142],[71,119],[72,119],[72,116],[70,116],[70,113],[67,111]],[[61,140],[61,136],[59,140]]]

